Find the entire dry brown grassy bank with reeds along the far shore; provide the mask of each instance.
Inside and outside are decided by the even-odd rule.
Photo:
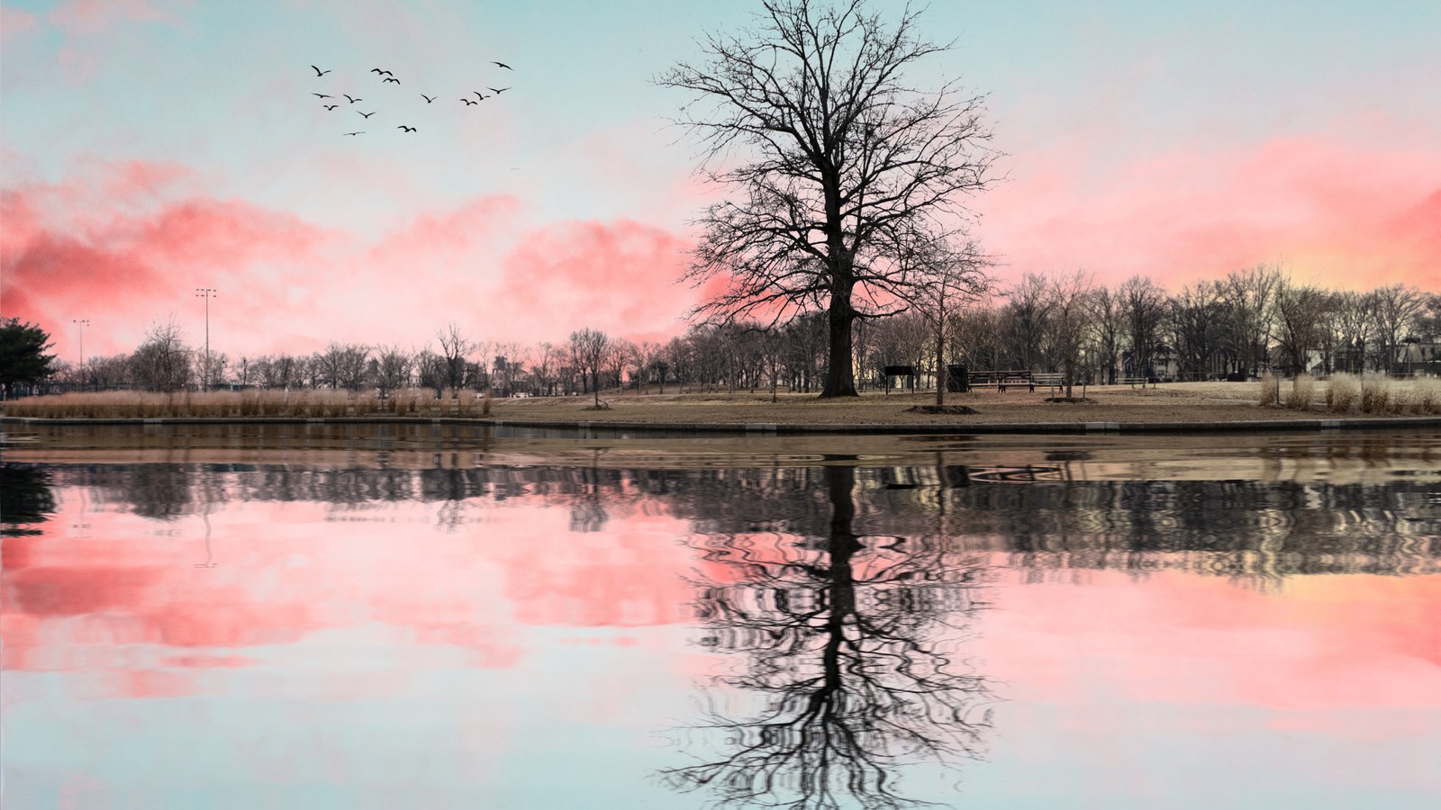
[[[1369,386],[1369,389],[1368,389]],[[1368,393],[1369,391],[1369,393]],[[781,393],[771,402],[764,392],[706,392],[661,395],[610,392],[595,409],[589,395],[496,399],[473,392],[437,401],[428,389],[375,393],[336,391],[246,391],[208,393],[66,393],[26,398],[6,404],[4,415],[30,418],[339,418],[376,417],[427,419],[438,417],[496,418],[532,422],[624,424],[1038,424],[1038,422],[1225,422],[1295,418],[1417,417],[1441,414],[1441,382],[1290,380],[1225,383],[1166,383],[1159,388],[1092,386],[1084,402],[1049,401],[1059,392],[1012,388],[950,393],[947,404],[965,405],[974,414],[921,414],[916,405],[932,404],[934,392],[866,392],[859,398],[817,399],[813,393]],[[1081,396],[1081,389],[1075,391]],[[1287,406],[1291,405],[1291,406]]]

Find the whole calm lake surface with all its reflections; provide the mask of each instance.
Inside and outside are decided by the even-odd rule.
[[[1438,432],[39,438],[6,807],[1441,806]]]

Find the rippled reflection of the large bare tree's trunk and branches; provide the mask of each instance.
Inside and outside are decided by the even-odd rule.
[[[978,569],[938,538],[859,536],[856,470],[823,470],[824,535],[705,540],[725,565],[699,600],[706,643],[748,656],[720,682],[762,695],[764,709],[712,711],[706,728],[726,732],[726,749],[663,775],[720,806],[905,807],[918,803],[898,793],[899,767],[977,752],[986,687],[951,653]]]

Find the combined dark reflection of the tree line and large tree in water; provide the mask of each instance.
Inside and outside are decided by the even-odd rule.
[[[981,468],[624,470],[477,467],[3,464],[7,523],[55,512],[52,487],[153,519],[228,500],[399,502],[442,509],[507,500],[571,509],[574,530],[654,504],[692,523],[706,559],[702,644],[729,675],[664,771],[722,806],[902,807],[906,765],[981,749],[989,690],[957,650],[991,552],[1038,572],[1190,569],[1236,577],[1434,572],[1435,487],[1248,481],[1045,481]],[[488,504],[486,502],[490,502]],[[738,504],[745,504],[738,509]],[[19,516],[19,519],[16,519]]]

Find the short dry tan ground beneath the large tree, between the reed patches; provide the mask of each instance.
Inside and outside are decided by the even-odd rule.
[[[1085,404],[1046,402],[1056,395],[1013,388],[1006,392],[980,391],[947,393],[947,405],[967,405],[971,415],[908,412],[915,405],[935,404],[935,392],[891,395],[866,392],[853,399],[817,399],[814,393],[780,393],[771,402],[767,392],[716,392],[664,395],[610,393],[608,405],[594,409],[591,396],[497,399],[491,418],[555,422],[630,424],[780,424],[780,425],[986,425],[1036,422],[1228,422],[1265,419],[1334,419],[1346,414],[1326,412],[1317,402],[1311,411],[1257,405],[1261,383],[1185,382],[1159,388],[1092,386]],[[1081,389],[1075,389],[1081,396]],[[1352,417],[1370,417],[1350,414]]]

